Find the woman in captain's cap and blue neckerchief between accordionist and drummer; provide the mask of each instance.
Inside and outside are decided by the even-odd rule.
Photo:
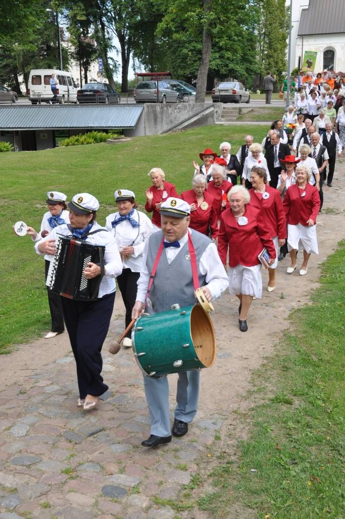
[[[142,251],[149,236],[154,233],[154,229],[150,218],[136,209],[135,194],[132,191],[117,189],[114,196],[117,212],[107,216],[105,227],[115,237],[122,259],[123,270],[116,280],[126,308],[125,323],[127,327],[136,302]],[[124,346],[131,346],[129,337],[130,332],[124,339]]]

